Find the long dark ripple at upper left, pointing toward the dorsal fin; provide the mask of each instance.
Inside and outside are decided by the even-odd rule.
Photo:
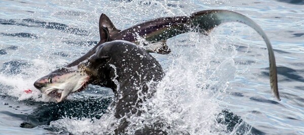
[[[0,19],[0,24],[2,25],[18,25],[25,27],[41,27],[46,29],[54,29],[63,31],[66,33],[77,34],[77,35],[88,35],[88,31],[79,28],[72,28],[66,24],[56,23],[56,22],[44,22],[34,19]]]

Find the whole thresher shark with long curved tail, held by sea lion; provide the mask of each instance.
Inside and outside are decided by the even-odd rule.
[[[80,58],[35,81],[34,87],[54,97],[57,102],[61,102],[70,93],[79,92],[86,88],[89,84],[89,75],[82,72],[78,65],[88,60],[96,52],[96,49],[106,42],[125,40],[141,46],[147,52],[169,54],[171,50],[166,44],[167,39],[188,32],[208,35],[215,27],[228,22],[245,24],[263,38],[269,54],[271,91],[280,100],[275,54],[269,38],[253,20],[240,13],[227,10],[204,10],[190,16],[162,17],[139,23],[125,30],[117,29],[105,14],[101,14],[98,44]],[[145,40],[144,43],[141,43],[142,39]]]

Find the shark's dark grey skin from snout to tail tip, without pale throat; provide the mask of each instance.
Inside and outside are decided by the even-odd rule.
[[[105,14],[101,14],[99,19],[99,43],[77,60],[37,80],[34,83],[34,86],[39,90],[42,90],[42,88],[44,87],[52,87],[52,81],[50,80],[52,80],[53,78],[60,80],[60,77],[63,76],[66,72],[70,73],[70,67],[77,66],[80,62],[87,60],[91,55],[95,53],[96,48],[105,42],[112,40],[126,40],[133,43],[138,43],[137,38],[141,37],[151,44],[157,42],[162,43],[160,47],[146,51],[168,54],[170,53],[170,49],[165,44],[168,38],[174,37],[182,33],[193,31],[199,31],[203,34],[208,34],[213,30],[213,28],[226,22],[239,22],[246,24],[247,26],[253,28],[263,38],[264,42],[267,44],[269,52],[271,91],[273,95],[278,100],[280,100],[275,55],[270,40],[263,32],[263,30],[250,18],[242,14],[226,10],[205,10],[193,13],[189,17],[177,16],[158,18],[137,24],[131,28],[122,31],[118,30]],[[149,44],[147,44],[146,46],[148,45]],[[66,78],[62,78],[62,80],[63,79]],[[61,82],[63,82],[62,80]]]

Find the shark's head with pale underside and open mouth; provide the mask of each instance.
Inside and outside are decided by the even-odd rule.
[[[89,76],[81,70],[62,68],[35,81],[34,87],[57,102],[63,101],[70,93],[87,87]]]

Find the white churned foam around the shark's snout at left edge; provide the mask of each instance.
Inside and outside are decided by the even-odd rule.
[[[33,83],[55,69],[55,64],[40,59],[33,59],[30,63],[29,67],[22,67],[21,73],[17,75],[0,74],[0,83],[6,86],[2,93],[17,97],[18,100],[50,101],[49,97],[33,86]],[[57,63],[60,63],[60,60]],[[26,93],[28,89],[31,92]]]

